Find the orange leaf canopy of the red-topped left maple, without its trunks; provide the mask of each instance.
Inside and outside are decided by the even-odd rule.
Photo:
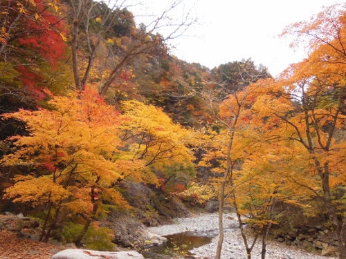
[[[52,96],[49,104],[54,110],[21,110],[3,115],[26,122],[30,135],[13,137],[17,151],[5,156],[1,164],[30,165],[37,168],[37,175],[45,175],[17,182],[8,189],[7,197],[35,204],[75,196],[78,200],[72,202],[91,204],[87,195],[90,188],[85,193],[84,186],[99,184],[100,188],[107,188],[124,177],[112,161],[121,144],[119,113],[90,88],[78,97]],[[69,182],[71,178],[84,182],[84,186]],[[87,207],[77,205],[71,208]]]

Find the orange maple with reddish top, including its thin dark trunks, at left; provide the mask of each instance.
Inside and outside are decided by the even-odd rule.
[[[3,157],[1,164],[32,169],[29,175],[17,175],[17,183],[6,189],[4,197],[47,204],[42,240],[48,240],[62,210],[84,215],[84,230],[75,240],[79,243],[95,215],[107,210],[102,200],[129,207],[113,186],[125,178],[143,182],[156,178],[148,177],[148,171],[141,175],[144,164],[140,160],[120,158],[120,115],[98,93],[86,88],[79,95],[52,96],[48,104],[51,110],[3,115],[25,122],[30,135],[11,137],[15,149]],[[51,224],[47,230],[48,221]]]

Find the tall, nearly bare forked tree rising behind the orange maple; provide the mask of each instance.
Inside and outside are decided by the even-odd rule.
[[[100,51],[101,45],[104,57],[99,61],[102,66],[98,69],[100,73],[98,87],[100,95],[105,95],[126,65],[140,55],[167,55],[167,41],[178,37],[194,23],[194,19],[187,15],[179,24],[165,24],[169,12],[183,3],[183,0],[179,0],[163,10],[149,28],[144,24],[136,28],[133,15],[127,10],[125,2],[98,3],[89,0],[71,0],[73,7],[71,49],[75,87],[78,90],[82,90],[83,85],[88,82],[96,52]],[[171,32],[165,37],[156,33],[156,30],[162,26],[172,27]],[[78,57],[78,46],[82,46],[83,42],[85,42],[84,52],[87,53],[86,59]]]

